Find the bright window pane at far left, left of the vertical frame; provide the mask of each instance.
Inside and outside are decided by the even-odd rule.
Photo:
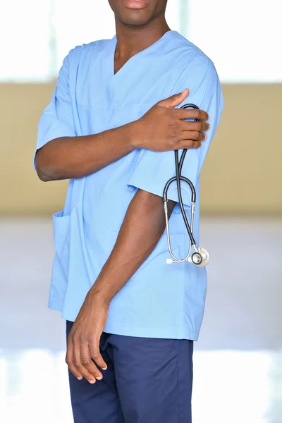
[[[0,10],[0,80],[47,80],[52,68],[51,2],[7,0]]]

